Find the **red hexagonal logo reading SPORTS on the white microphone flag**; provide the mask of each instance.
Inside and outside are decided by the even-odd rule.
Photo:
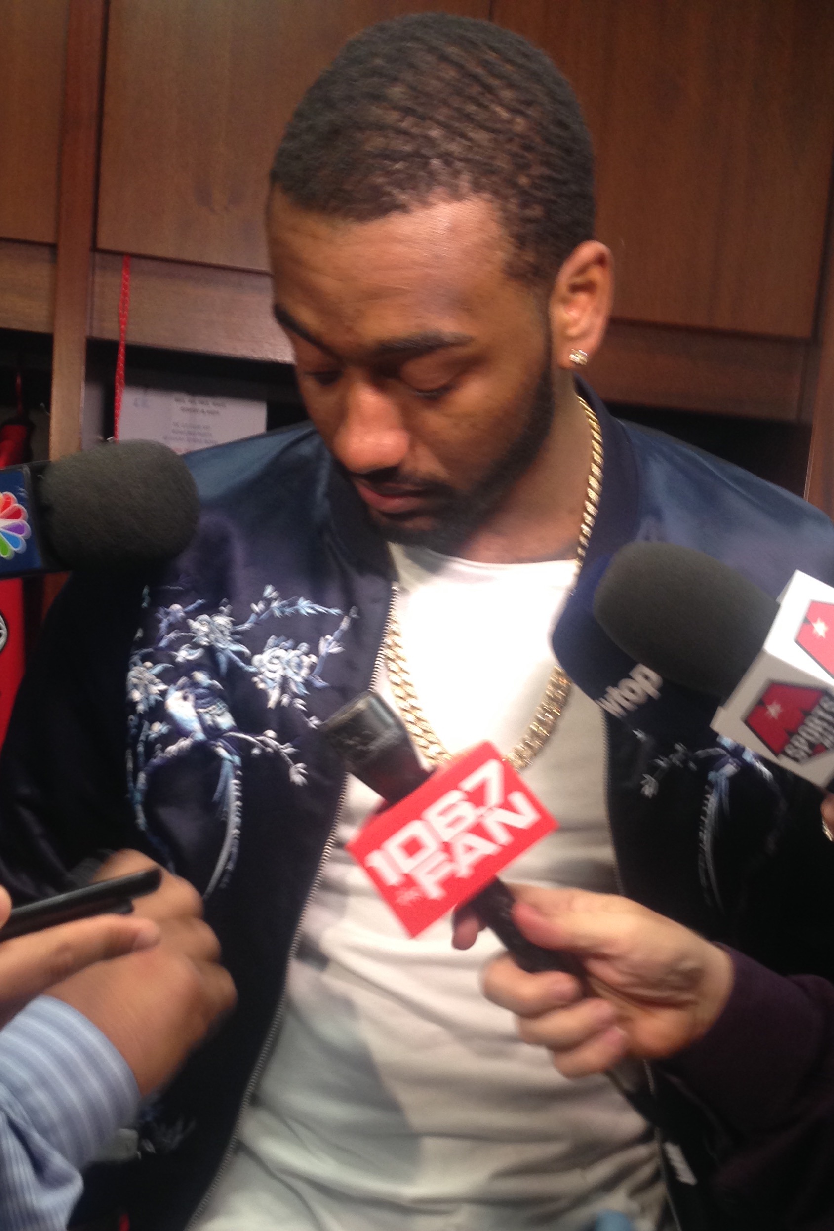
[[[774,756],[797,764],[834,748],[834,697],[824,688],[769,683],[744,723]]]

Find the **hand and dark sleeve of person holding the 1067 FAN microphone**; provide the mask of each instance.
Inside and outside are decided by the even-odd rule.
[[[833,812],[829,804],[829,814]],[[514,910],[537,944],[581,958],[593,995],[565,974],[530,975],[505,954],[487,996],[517,1014],[521,1037],[568,1077],[625,1055],[665,1070],[735,1139],[724,1199],[750,1188],[785,1231],[834,1221],[834,988],[786,979],[710,944],[626,897],[517,886]]]

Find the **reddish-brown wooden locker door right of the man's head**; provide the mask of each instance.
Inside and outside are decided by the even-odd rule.
[[[829,0],[494,0],[573,82],[628,320],[809,337],[834,148]]]

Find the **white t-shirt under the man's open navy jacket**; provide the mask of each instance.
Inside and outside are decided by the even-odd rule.
[[[451,751],[509,750],[553,667],[573,561],[484,565],[394,548],[423,710]],[[387,681],[378,687],[388,693]],[[508,879],[613,891],[596,707],[572,689],[525,782],[559,828]],[[500,943],[405,934],[344,844],[379,798],[350,779],[303,918],[275,1053],[200,1231],[585,1231],[602,1209],[657,1225],[644,1121],[605,1077],[568,1081],[478,976]]]

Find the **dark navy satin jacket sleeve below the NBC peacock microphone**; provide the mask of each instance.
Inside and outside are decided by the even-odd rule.
[[[0,756],[0,881],[67,888],[97,851],[142,846],[127,792],[126,678],[143,581],[74,575],[53,603]]]

